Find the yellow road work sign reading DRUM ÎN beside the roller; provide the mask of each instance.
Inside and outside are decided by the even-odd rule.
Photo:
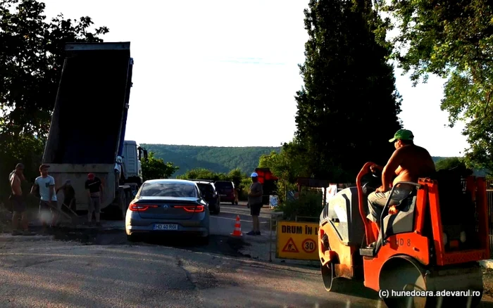
[[[278,222],[277,251],[280,259],[318,260],[318,224]]]

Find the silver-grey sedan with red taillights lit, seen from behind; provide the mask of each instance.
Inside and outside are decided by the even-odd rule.
[[[208,204],[195,182],[156,179],[145,181],[130,203],[125,231],[129,240],[150,233],[190,234],[208,243],[209,222]]]

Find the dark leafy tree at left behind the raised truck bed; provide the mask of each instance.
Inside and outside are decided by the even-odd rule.
[[[49,131],[67,42],[101,41],[89,17],[46,20],[45,4],[0,0],[0,192],[17,162],[35,177]],[[34,171],[32,171],[34,170]]]

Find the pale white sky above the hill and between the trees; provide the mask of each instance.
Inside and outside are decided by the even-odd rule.
[[[44,3],[49,18],[89,15],[96,26],[109,28],[104,41],[130,41],[135,64],[126,140],[193,146],[292,140],[308,0]],[[463,126],[444,127],[447,113],[439,107],[443,81],[430,77],[413,88],[407,76],[396,74],[404,99],[399,117],[416,144],[434,156],[461,155],[467,146]]]

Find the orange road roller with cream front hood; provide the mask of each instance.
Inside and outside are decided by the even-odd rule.
[[[478,306],[478,261],[489,259],[485,179],[440,170],[417,183],[395,184],[379,228],[367,218],[368,195],[382,185],[372,165],[367,162],[356,187],[339,191],[320,214],[325,289],[344,293],[362,281],[387,307]],[[403,186],[408,193],[395,198]]]

